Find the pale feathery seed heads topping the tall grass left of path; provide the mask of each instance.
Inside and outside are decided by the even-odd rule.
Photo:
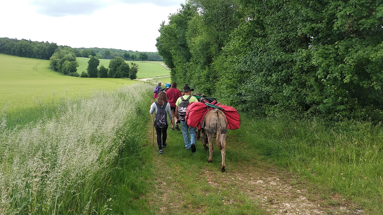
[[[4,158],[10,161],[1,163],[2,167],[7,165],[2,169],[8,169],[0,174],[0,185],[5,189],[2,206],[10,205],[15,198],[13,191],[19,200],[30,191],[49,208],[56,197],[69,189],[76,191],[79,184],[107,168],[122,144],[113,141],[116,131],[134,117],[141,94],[150,90],[150,85],[141,84],[98,91],[84,98],[65,98],[57,117],[9,131],[0,139]]]

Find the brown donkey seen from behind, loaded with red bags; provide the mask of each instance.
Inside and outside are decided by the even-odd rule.
[[[208,163],[213,161],[213,139],[216,135],[216,142],[222,155],[221,172],[225,172],[225,145],[226,133],[228,132],[225,114],[219,109],[209,111],[203,119],[201,131],[203,148],[205,151],[209,150]],[[207,142],[209,142],[209,147],[206,146]]]

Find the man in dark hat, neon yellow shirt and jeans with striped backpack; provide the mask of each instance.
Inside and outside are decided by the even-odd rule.
[[[182,134],[183,134],[183,140],[185,142],[186,149],[191,149],[191,152],[196,151],[195,147],[195,140],[196,140],[196,127],[190,127],[185,122],[185,115],[186,115],[186,109],[190,103],[198,102],[198,100],[191,96],[191,91],[194,89],[190,89],[188,85],[183,86],[183,91],[185,93],[184,96],[181,96],[177,99],[177,102],[175,103],[175,114],[181,121],[181,128],[182,128]],[[190,132],[190,138],[189,138],[189,132]]]

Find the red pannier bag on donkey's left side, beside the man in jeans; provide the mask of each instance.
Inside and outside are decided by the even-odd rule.
[[[202,120],[202,117],[205,116],[208,111],[206,104],[201,102],[193,102],[189,104],[186,109],[185,122],[190,127],[197,127],[198,123]]]

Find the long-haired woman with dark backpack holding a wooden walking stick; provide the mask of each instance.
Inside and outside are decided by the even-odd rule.
[[[166,98],[165,92],[158,94],[157,101],[155,101],[151,108],[150,114],[155,111],[154,127],[157,134],[158,153],[162,154],[163,148],[166,146],[166,131],[168,128],[167,114],[169,115],[170,123],[173,124],[172,112],[170,111],[170,104]],[[162,139],[161,139],[162,134]],[[161,142],[162,140],[162,142]]]

